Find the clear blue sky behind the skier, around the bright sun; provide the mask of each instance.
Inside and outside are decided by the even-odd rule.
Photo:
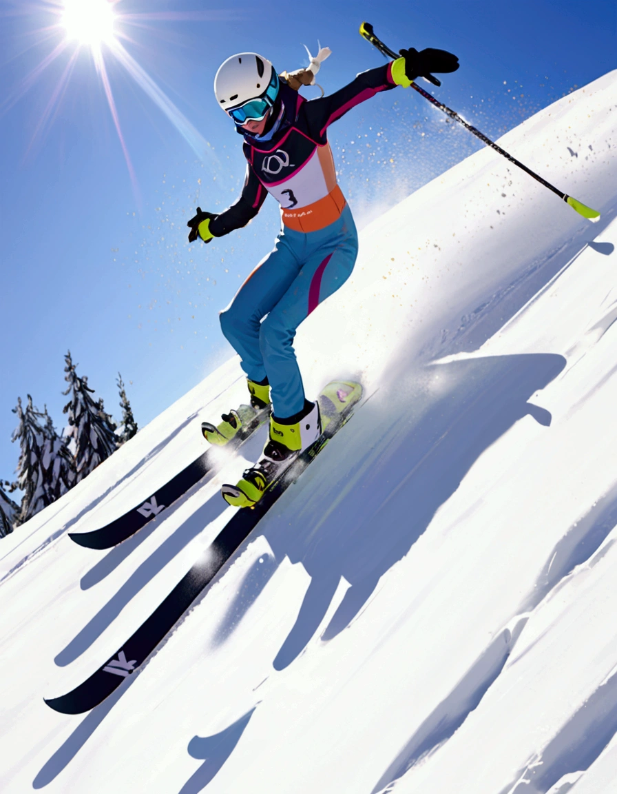
[[[223,209],[243,179],[240,137],[213,98],[222,60],[257,51],[291,71],[308,62],[302,45],[315,52],[320,40],[332,55],[319,82],[334,91],[383,63],[358,35],[370,21],[394,49],[455,52],[458,72],[443,75],[441,88],[423,87],[493,138],[617,67],[615,0],[265,0],[226,8],[119,0],[116,29],[153,81],[148,95],[144,79],[103,48],[131,175],[89,48],[75,53],[67,44],[29,81],[63,40],[53,28],[62,5],[0,2],[0,479],[13,479],[17,464],[10,435],[18,395],[33,395],[40,409],[46,403],[62,428],[67,349],[117,419],[121,372],[140,426],[232,355],[217,312],[270,250],[278,210],[268,199],[247,228],[208,246],[186,241],[195,206]],[[74,53],[70,79],[51,102]],[[178,123],[152,91],[173,103]],[[182,134],[180,118],[196,132]],[[400,89],[354,109],[329,138],[361,226],[481,146]]]

